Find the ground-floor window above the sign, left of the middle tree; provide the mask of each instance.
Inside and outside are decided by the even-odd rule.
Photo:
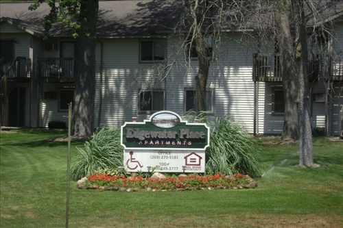
[[[139,110],[143,112],[161,111],[165,106],[165,92],[153,90],[139,94]]]

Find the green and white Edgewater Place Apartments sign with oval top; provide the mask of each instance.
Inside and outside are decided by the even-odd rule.
[[[204,173],[209,127],[182,121],[175,112],[161,111],[144,122],[121,126],[124,165],[128,172]],[[148,168],[150,167],[150,168]]]

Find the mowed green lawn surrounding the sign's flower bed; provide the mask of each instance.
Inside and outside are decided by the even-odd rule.
[[[65,227],[65,131],[1,134],[0,227]],[[75,147],[71,142],[72,161]],[[298,168],[297,144],[260,144],[265,173],[251,190],[113,192],[71,181],[69,227],[343,227],[343,142],[314,138],[321,168]]]

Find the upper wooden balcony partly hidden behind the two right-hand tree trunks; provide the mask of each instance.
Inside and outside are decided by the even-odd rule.
[[[318,58],[309,55],[309,80],[318,79]],[[280,53],[255,53],[252,58],[254,81],[282,81]]]

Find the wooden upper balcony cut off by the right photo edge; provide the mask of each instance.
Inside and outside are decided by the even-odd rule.
[[[332,52],[328,55],[327,80],[343,81],[343,51]]]

